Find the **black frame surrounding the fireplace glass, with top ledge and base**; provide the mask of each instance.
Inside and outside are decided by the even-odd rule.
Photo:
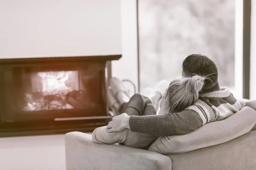
[[[3,69],[6,65],[72,65],[72,63],[87,63],[87,64],[100,64],[104,65],[102,79],[104,83],[102,85],[102,92],[104,93],[105,103],[106,99],[106,85],[110,79],[110,74],[107,73],[105,77],[107,63],[111,60],[118,60],[122,55],[106,55],[106,56],[80,56],[80,57],[33,57],[33,58],[6,58],[0,59],[0,77],[3,77]],[[0,89],[3,89],[3,84],[0,83]],[[3,98],[1,98],[3,100]],[[0,100],[0,105],[4,101]],[[3,111],[0,107],[0,111]],[[96,127],[106,125],[112,116],[107,114],[108,108],[105,105],[105,111],[102,116],[93,116],[93,114],[86,117],[77,114],[70,118],[63,116],[64,114],[59,111],[59,116],[49,116],[49,119],[44,121],[34,121],[34,122],[0,122],[0,137],[4,136],[23,136],[23,135],[38,135],[38,134],[56,134],[56,133],[67,133],[70,131],[81,131],[81,132],[92,132]],[[65,110],[65,112],[68,112]],[[58,114],[58,111],[56,112]],[[0,118],[1,119],[1,118]]]

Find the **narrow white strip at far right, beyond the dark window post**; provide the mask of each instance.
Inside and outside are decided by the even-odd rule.
[[[250,99],[256,99],[256,1],[251,1]]]

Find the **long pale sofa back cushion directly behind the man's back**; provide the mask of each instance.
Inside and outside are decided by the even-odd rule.
[[[206,124],[197,130],[178,136],[161,136],[148,150],[162,154],[185,153],[228,142],[250,132],[256,124],[256,111],[244,106],[228,118]]]

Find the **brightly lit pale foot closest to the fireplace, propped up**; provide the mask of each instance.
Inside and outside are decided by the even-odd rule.
[[[114,98],[122,105],[123,103],[129,102],[130,97],[128,96],[125,86],[122,82],[113,77],[110,80],[111,91]]]

